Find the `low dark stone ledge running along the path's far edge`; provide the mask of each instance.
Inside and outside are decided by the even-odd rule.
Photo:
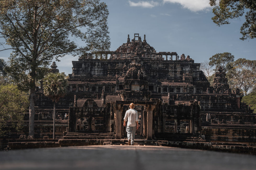
[[[125,139],[59,139],[58,142],[10,142],[10,149],[51,148],[66,146],[88,145],[124,145]],[[256,155],[256,147],[244,145],[225,145],[225,143],[212,142],[188,142],[188,141],[161,141],[161,140],[135,140],[135,144],[167,146],[187,149],[200,149],[220,152],[245,153]]]

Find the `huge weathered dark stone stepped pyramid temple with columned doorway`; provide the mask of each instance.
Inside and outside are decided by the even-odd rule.
[[[156,52],[139,34],[132,40],[128,35],[116,51],[86,53],[72,64],[68,94],[56,104],[60,145],[125,144],[123,118],[133,102],[141,115],[135,144],[255,146],[255,114],[241,103],[239,90],[229,88],[221,69],[211,87],[200,63],[184,54]],[[58,71],[55,62],[51,68]],[[39,141],[52,138],[53,103],[42,84],[36,90],[34,140]],[[25,119],[17,141],[28,135],[28,114]]]

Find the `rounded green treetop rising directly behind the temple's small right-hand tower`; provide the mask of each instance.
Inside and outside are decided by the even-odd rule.
[[[209,66],[215,67],[215,71],[218,70],[219,67],[226,72],[228,69],[231,68],[231,63],[234,61],[234,56],[231,53],[217,53],[209,58]]]

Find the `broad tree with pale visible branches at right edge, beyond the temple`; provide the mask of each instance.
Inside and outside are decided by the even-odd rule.
[[[256,87],[256,60],[239,58],[232,63],[232,69],[227,72],[231,89],[240,89],[247,95]]]

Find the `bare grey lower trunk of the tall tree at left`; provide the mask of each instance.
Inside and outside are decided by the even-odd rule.
[[[35,82],[31,83],[29,95],[29,136],[34,136],[35,133]]]

